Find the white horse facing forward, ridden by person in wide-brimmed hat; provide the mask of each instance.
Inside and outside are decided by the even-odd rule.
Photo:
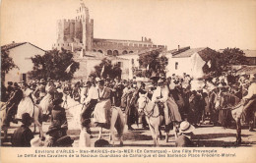
[[[138,99],[138,112],[139,114],[144,113],[146,115],[146,120],[149,124],[150,131],[152,133],[152,137],[154,140],[154,145],[159,146],[159,134],[160,133],[160,125],[163,121],[163,117],[160,116],[159,106],[156,103],[153,103],[146,94],[139,94]],[[175,137],[177,136],[177,130],[175,128],[175,124],[173,125],[173,131]],[[168,140],[168,133],[166,133],[166,141]]]

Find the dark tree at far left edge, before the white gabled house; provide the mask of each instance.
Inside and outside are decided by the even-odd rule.
[[[5,75],[13,68],[18,68],[18,66],[15,65],[13,58],[9,56],[9,51],[1,50],[1,79],[2,79],[2,81],[4,81]]]

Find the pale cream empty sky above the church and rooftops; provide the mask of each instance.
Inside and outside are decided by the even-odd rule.
[[[84,0],[94,36],[152,38],[168,50],[190,46],[256,50],[256,0]],[[49,50],[57,20],[74,19],[80,0],[2,0],[1,45],[31,42]]]

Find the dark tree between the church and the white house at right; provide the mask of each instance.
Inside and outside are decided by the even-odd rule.
[[[147,77],[150,77],[153,72],[165,74],[164,71],[168,64],[168,59],[164,55],[160,56],[160,52],[161,50],[159,49],[140,55],[139,63],[141,67],[149,67],[149,70],[146,72]]]

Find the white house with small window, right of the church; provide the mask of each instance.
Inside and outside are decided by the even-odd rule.
[[[168,58],[166,67],[166,77],[172,74],[183,76],[186,73],[194,79],[199,79],[204,76],[203,67],[209,64],[207,55],[211,55],[214,50],[208,47],[201,48],[180,48],[175,51],[165,53]]]

